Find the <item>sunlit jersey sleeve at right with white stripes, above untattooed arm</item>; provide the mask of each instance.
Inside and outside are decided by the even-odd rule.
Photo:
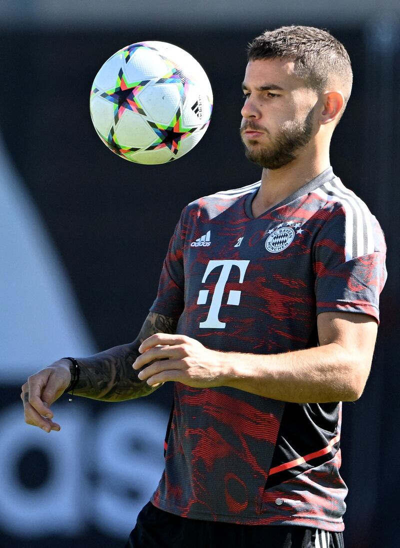
[[[356,312],[379,322],[379,295],[386,281],[386,244],[375,217],[350,218],[340,205],[314,244],[317,314]]]

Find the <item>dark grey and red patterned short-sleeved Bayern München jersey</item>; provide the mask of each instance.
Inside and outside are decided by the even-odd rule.
[[[386,248],[366,205],[329,168],[254,218],[259,186],[183,210],[151,310],[210,349],[259,354],[318,345],[321,312],[379,321]],[[340,410],[175,383],[153,504],[201,520],[342,530]]]

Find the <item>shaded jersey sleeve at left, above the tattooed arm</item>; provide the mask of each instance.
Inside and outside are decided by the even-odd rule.
[[[178,319],[184,309],[183,210],[170,240],[158,293],[150,311]]]

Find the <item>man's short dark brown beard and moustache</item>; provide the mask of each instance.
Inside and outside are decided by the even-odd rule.
[[[261,128],[252,121],[246,121],[240,128],[241,139],[245,145],[246,158],[265,169],[279,169],[283,165],[292,162],[298,156],[302,147],[308,145],[312,135],[312,115],[314,109],[311,109],[302,122],[294,121],[285,129],[280,129],[275,136],[275,140],[269,146],[262,146],[258,141],[249,141],[250,144],[257,143],[257,147],[249,149],[245,144],[242,133],[246,129],[262,130],[265,133],[266,128]]]

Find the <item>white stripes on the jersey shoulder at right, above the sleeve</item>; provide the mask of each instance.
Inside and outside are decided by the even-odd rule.
[[[374,238],[367,206],[347,190],[339,179],[326,182],[315,193],[328,202],[337,201],[346,212],[346,261],[374,252]]]

